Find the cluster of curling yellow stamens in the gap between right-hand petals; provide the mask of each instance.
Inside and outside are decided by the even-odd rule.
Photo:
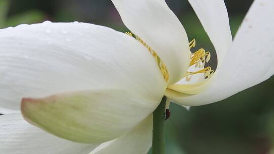
[[[189,42],[189,48],[193,48],[196,46],[196,41],[193,39]],[[203,48],[197,50],[196,52],[192,53],[190,56],[190,64],[189,66],[195,65],[197,68],[203,68],[205,63],[208,63],[210,60],[210,52],[206,52]],[[187,72],[184,77],[187,81],[190,81],[192,75],[198,74],[198,73],[204,73],[205,78],[210,78],[211,75],[214,73],[214,71],[211,69],[211,67],[206,67],[204,69],[198,70],[196,72]]]

